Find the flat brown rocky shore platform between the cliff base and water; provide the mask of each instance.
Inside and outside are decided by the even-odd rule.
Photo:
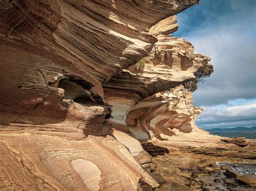
[[[148,152],[166,181],[157,190],[255,190],[256,176],[239,174],[227,164],[256,166],[256,140],[240,147],[221,139],[192,132],[154,143]]]

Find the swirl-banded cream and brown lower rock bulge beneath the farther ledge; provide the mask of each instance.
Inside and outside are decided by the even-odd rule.
[[[113,105],[113,118],[109,122],[112,127],[130,131],[140,141],[154,141],[160,134],[176,136],[191,132],[202,111],[193,107],[191,93],[182,85],[147,97],[133,107],[117,97],[107,101]]]

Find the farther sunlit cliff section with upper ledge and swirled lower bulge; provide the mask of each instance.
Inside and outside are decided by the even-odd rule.
[[[117,128],[125,125],[137,139],[154,139],[159,133],[176,135],[174,128],[190,132],[201,112],[192,106],[192,94],[182,84],[196,79],[210,58],[194,54],[193,46],[184,39],[157,38],[144,58],[143,72],[130,66],[103,86],[105,100],[113,105],[110,123],[118,124],[114,125]]]

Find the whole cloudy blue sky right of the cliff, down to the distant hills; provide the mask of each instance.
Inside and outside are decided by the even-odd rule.
[[[204,108],[204,129],[256,126],[256,0],[201,0],[177,15],[196,53],[210,56],[214,73],[193,93]]]

